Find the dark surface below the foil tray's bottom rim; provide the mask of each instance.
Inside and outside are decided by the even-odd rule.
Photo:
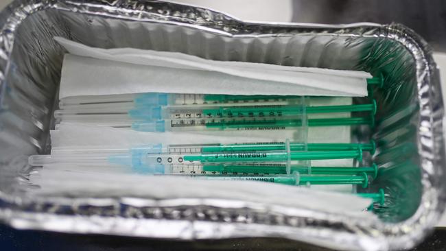
[[[167,250],[296,250],[330,251],[305,243],[275,238],[243,238],[210,241],[160,241],[156,239],[110,237],[105,235],[69,235],[56,232],[14,230],[0,225],[0,250],[99,250],[99,251],[167,251]],[[446,250],[446,228],[437,228],[433,235],[412,251]]]

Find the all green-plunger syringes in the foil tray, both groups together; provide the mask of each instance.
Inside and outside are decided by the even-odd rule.
[[[370,84],[381,80],[371,79]],[[215,130],[299,130],[282,142],[231,144],[152,143],[130,148],[54,148],[51,155],[30,157],[44,169],[130,172],[206,180],[255,180],[294,185],[360,185],[377,176],[375,164],[362,166],[375,143],[307,143],[307,127],[375,123],[375,100],[368,104],[312,105],[325,97],[136,93],[64,97],[54,112],[56,123],[81,123],[142,132]],[[323,102],[322,102],[323,103]],[[336,116],[343,114],[344,116]],[[315,115],[315,116],[312,116]],[[56,129],[58,126],[56,125]],[[366,154],[369,156],[370,154]],[[351,166],[314,166],[312,160],[355,160]],[[384,195],[360,194],[382,203]]]

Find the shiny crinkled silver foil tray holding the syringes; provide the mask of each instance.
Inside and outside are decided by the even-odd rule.
[[[344,250],[409,248],[445,206],[443,100],[430,48],[401,25],[244,23],[159,1],[14,1],[0,14],[0,219],[16,228],[167,239],[284,237]],[[63,49],[179,51],[213,60],[383,73],[371,191],[381,222],[264,203],[178,198],[30,198],[27,156],[49,150]],[[357,99],[362,102],[362,99]]]

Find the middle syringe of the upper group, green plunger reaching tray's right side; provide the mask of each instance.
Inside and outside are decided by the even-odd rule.
[[[356,104],[346,106],[141,106],[128,109],[123,106],[119,108],[70,108],[56,110],[54,117],[62,121],[75,121],[86,119],[97,121],[102,118],[113,118],[118,121],[128,115],[128,119],[143,119],[145,121],[157,119],[213,119],[213,118],[253,118],[253,117],[293,117],[298,115],[314,113],[340,113],[340,112],[372,112],[375,115],[376,102],[372,104]],[[124,118],[126,119],[126,118]]]

